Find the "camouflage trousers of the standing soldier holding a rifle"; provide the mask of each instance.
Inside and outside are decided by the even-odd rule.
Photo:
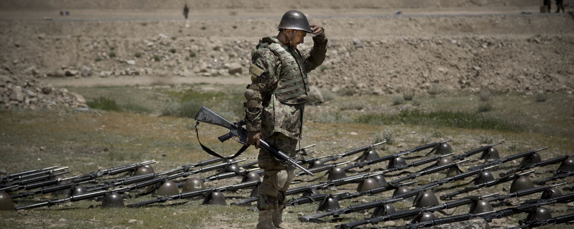
[[[296,139],[281,133],[274,133],[265,141],[290,156],[295,155]],[[289,189],[289,185],[293,181],[295,168],[277,161],[264,149],[259,151],[258,160],[259,167],[263,169],[265,176],[263,176],[263,182],[258,189],[257,209],[278,208],[285,201],[285,191]]]

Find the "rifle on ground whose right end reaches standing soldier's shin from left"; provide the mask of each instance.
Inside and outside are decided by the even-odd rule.
[[[201,195],[206,195],[206,194],[208,194],[210,192],[214,192],[214,191],[220,191],[220,192],[235,191],[238,189],[252,187],[255,185],[259,185],[259,184],[261,184],[261,181],[248,181],[248,182],[234,184],[234,185],[227,185],[227,186],[220,187],[220,188],[204,188],[204,189],[199,189],[199,190],[195,190],[195,191],[182,192],[182,193],[179,193],[179,194],[173,195],[173,196],[157,197],[157,199],[155,199],[155,200],[147,200],[147,201],[142,201],[139,203],[129,204],[126,207],[139,208],[139,207],[144,207],[145,205],[149,205],[149,204],[164,203],[164,202],[169,201],[169,200],[193,198],[193,197],[197,197],[197,196],[201,196]]]

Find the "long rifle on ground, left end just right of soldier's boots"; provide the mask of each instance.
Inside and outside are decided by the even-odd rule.
[[[329,211],[329,212],[321,212],[321,213],[315,214],[315,215],[301,216],[301,217],[299,217],[299,221],[300,222],[312,222],[312,223],[326,222],[325,220],[321,220],[320,218],[324,218],[326,216],[333,216],[333,218],[338,218],[342,214],[349,214],[351,212],[364,211],[366,209],[380,207],[380,206],[383,206],[385,204],[395,203],[395,202],[400,201],[402,199],[406,199],[408,197],[418,195],[418,193],[420,193],[422,191],[432,189],[432,188],[438,187],[438,186],[446,184],[446,183],[452,183],[454,181],[457,181],[457,180],[460,180],[460,179],[463,179],[463,178],[466,178],[469,176],[473,176],[475,174],[478,174],[479,172],[482,172],[482,170],[494,168],[495,166],[497,166],[497,165],[494,165],[494,166],[488,167],[488,168],[484,168],[484,169],[473,170],[473,171],[468,171],[468,172],[456,174],[454,176],[450,176],[450,177],[444,178],[442,180],[434,181],[432,183],[422,185],[421,187],[414,188],[409,192],[405,192],[402,194],[392,196],[389,199],[378,200],[378,201],[373,201],[373,202],[364,203],[364,204],[355,204],[355,205],[351,205],[351,206],[346,207],[346,208],[341,208],[341,209],[337,209],[337,210]]]

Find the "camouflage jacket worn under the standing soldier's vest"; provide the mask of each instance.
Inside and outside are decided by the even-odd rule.
[[[259,44],[263,42],[280,43],[276,37],[264,37],[259,41]],[[313,43],[311,52],[300,52],[307,73],[323,63],[325,52],[327,52],[326,36],[313,37]],[[264,70],[257,79],[258,83],[265,85],[261,88],[263,94],[275,90],[281,71],[279,57],[271,49],[261,48],[255,51],[251,61]],[[263,108],[247,108],[245,110],[247,131],[260,130],[262,139],[276,132],[285,134],[289,138],[301,139],[304,103],[284,104],[271,94],[263,96],[262,105]]]

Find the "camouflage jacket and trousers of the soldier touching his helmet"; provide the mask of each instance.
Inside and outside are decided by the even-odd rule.
[[[313,42],[313,49],[310,53],[290,51],[297,52],[294,55],[301,57],[302,69],[307,73],[323,63],[327,51],[327,37],[313,37]],[[257,51],[251,57],[253,65],[262,70],[261,74],[255,76],[256,79],[252,76],[252,80],[258,83],[259,90],[262,92],[262,108],[246,108],[246,129],[247,131],[261,131],[262,139],[289,156],[294,156],[297,140],[301,139],[304,102],[284,103],[277,98],[276,94],[273,94],[280,81],[281,69],[284,68],[282,68],[281,57],[276,52],[261,46],[273,43],[281,44],[276,37],[262,38]],[[257,208],[266,210],[282,207],[285,201],[285,191],[294,177],[294,168],[287,168],[286,164],[275,160],[264,149],[259,151],[258,160],[259,167],[265,170],[265,177],[259,187]],[[283,187],[278,188],[273,185],[272,180],[281,170],[288,173],[288,178]]]

